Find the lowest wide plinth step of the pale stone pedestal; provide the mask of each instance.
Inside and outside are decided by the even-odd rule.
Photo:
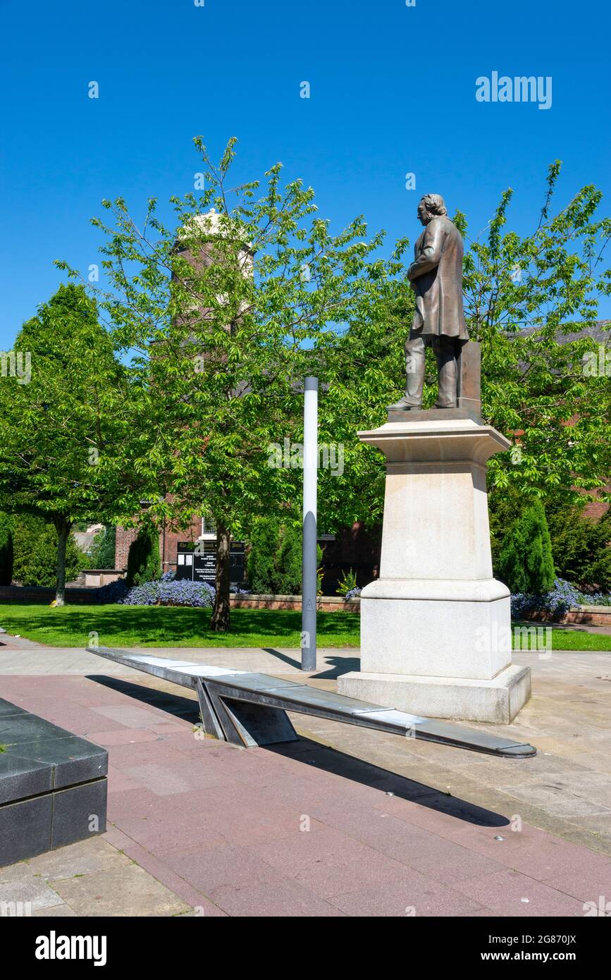
[[[425,717],[506,725],[531,697],[531,669],[510,664],[493,680],[353,670],[338,678],[338,691]]]

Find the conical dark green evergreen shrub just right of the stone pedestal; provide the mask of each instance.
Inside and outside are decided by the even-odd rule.
[[[532,504],[509,528],[498,556],[498,577],[512,593],[542,595],[554,583],[554,565],[545,512]]]

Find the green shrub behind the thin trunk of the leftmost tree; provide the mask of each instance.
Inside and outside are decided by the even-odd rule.
[[[13,578],[20,585],[56,585],[58,536],[53,524],[42,517],[14,516]],[[73,581],[80,571],[82,552],[72,535],[66,548],[66,581]]]

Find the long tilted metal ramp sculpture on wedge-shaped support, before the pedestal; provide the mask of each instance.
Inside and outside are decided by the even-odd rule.
[[[298,740],[286,713],[296,711],[493,756],[519,759],[537,754],[528,743],[382,708],[268,674],[129,654],[108,647],[87,647],[87,652],[197,691],[204,731],[233,745],[253,748]]]

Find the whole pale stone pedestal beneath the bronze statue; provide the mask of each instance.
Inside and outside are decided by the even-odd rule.
[[[530,697],[530,670],[511,663],[486,463],[510,444],[470,412],[453,416],[408,413],[359,432],[387,460],[382,556],[360,599],[361,669],[341,677],[339,691],[401,711],[507,723]]]

